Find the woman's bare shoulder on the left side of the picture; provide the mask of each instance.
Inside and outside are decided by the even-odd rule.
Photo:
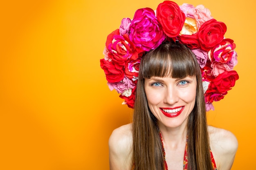
[[[113,130],[108,146],[110,170],[130,170],[132,166],[132,124]]]

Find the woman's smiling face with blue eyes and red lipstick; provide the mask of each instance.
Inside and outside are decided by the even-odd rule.
[[[151,77],[145,79],[144,87],[148,106],[157,118],[159,126],[175,128],[186,126],[195,105],[196,77],[175,79]]]

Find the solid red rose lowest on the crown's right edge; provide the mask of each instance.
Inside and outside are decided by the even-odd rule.
[[[235,82],[238,80],[238,78],[239,76],[236,71],[225,71],[211,81],[207,91],[218,91],[219,93],[226,93],[227,91],[231,90],[231,87],[235,86]]]

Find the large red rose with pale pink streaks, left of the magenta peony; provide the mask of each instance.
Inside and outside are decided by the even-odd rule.
[[[107,37],[106,47],[108,57],[115,62],[124,63],[131,57],[138,57],[135,45],[129,40],[128,35],[119,35],[119,29],[110,33]]]

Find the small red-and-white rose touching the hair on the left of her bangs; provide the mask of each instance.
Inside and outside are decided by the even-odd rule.
[[[137,60],[132,60],[128,62],[128,64],[125,67],[126,76],[132,79],[133,81],[136,81],[138,79],[140,60],[140,57]]]

